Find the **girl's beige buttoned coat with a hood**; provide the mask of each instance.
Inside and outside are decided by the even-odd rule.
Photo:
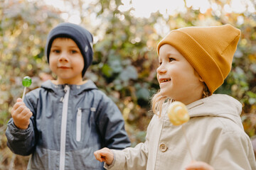
[[[241,104],[227,95],[214,94],[188,106],[191,120],[183,124],[193,158],[218,169],[256,169],[250,138],[242,128]],[[146,142],[122,151],[113,150],[114,162],[108,169],[184,169],[191,162],[181,126],[166,115],[154,115]]]

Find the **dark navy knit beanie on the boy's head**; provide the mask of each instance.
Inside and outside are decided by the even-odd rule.
[[[85,75],[87,68],[92,64],[92,34],[82,28],[81,26],[73,23],[60,23],[58,26],[50,30],[46,40],[46,57],[49,63],[50,47],[55,38],[71,38],[78,45],[82,57],[84,58],[85,67],[82,69],[82,77]]]

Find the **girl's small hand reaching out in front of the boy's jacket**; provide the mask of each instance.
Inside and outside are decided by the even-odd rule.
[[[95,151],[94,155],[99,162],[106,162],[107,165],[111,165],[114,159],[113,152],[107,147]]]

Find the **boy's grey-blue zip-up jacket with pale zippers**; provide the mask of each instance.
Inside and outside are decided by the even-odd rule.
[[[130,146],[119,109],[90,80],[46,81],[26,94],[24,103],[33,113],[28,129],[16,128],[11,118],[6,137],[15,154],[32,154],[28,169],[103,169],[93,152]]]

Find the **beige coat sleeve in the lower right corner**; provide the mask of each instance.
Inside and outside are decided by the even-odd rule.
[[[225,132],[213,148],[214,169],[256,169],[250,138],[245,132]]]

